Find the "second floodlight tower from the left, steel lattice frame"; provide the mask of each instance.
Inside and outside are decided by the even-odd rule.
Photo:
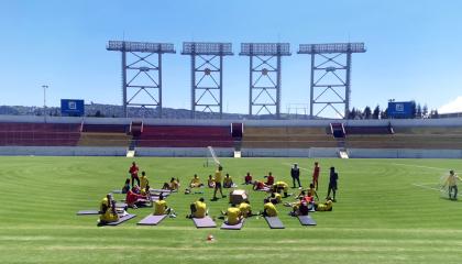
[[[223,57],[233,55],[231,43],[184,42],[191,56],[191,118],[196,110],[223,114]]]

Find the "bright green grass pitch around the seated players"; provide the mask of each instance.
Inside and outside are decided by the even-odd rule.
[[[186,185],[194,173],[205,180],[213,172],[202,166],[204,158],[135,161],[153,187],[169,177]],[[276,179],[290,183],[294,162],[305,168],[306,185],[314,160],[222,160],[235,182],[248,170],[254,177],[272,170]],[[150,208],[135,210],[135,219],[116,228],[98,228],[97,217],[75,216],[96,209],[108,191],[123,185],[128,158],[0,157],[0,263],[461,263],[462,202],[425,188],[436,187],[450,168],[462,172],[460,161],[319,162],[320,197],[326,196],[329,166],[336,166],[340,180],[333,211],[312,215],[317,227],[301,227],[287,216],[288,208],[278,206],[284,230],[252,218],[241,231],[222,231],[196,229],[185,216],[199,195],[183,193],[167,199],[178,218],[158,227],[135,224]],[[227,208],[226,199],[209,201],[211,190],[204,196],[212,216]],[[261,209],[263,197],[250,191],[254,210]],[[215,242],[206,241],[209,233]]]

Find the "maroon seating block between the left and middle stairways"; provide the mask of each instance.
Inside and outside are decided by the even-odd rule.
[[[143,125],[138,142],[142,147],[232,147],[229,127]]]

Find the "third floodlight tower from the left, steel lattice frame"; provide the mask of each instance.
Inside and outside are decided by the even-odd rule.
[[[239,55],[250,58],[249,114],[252,116],[256,108],[256,114],[264,109],[280,118],[280,58],[292,55],[290,44],[241,43]]]

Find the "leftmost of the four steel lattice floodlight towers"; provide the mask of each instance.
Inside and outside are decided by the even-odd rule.
[[[174,44],[109,41],[106,50],[122,53],[124,117],[129,117],[128,107],[134,106],[141,109],[157,107],[162,118],[162,54],[176,53]],[[127,54],[133,62],[127,63]],[[157,55],[156,58],[153,55]]]

